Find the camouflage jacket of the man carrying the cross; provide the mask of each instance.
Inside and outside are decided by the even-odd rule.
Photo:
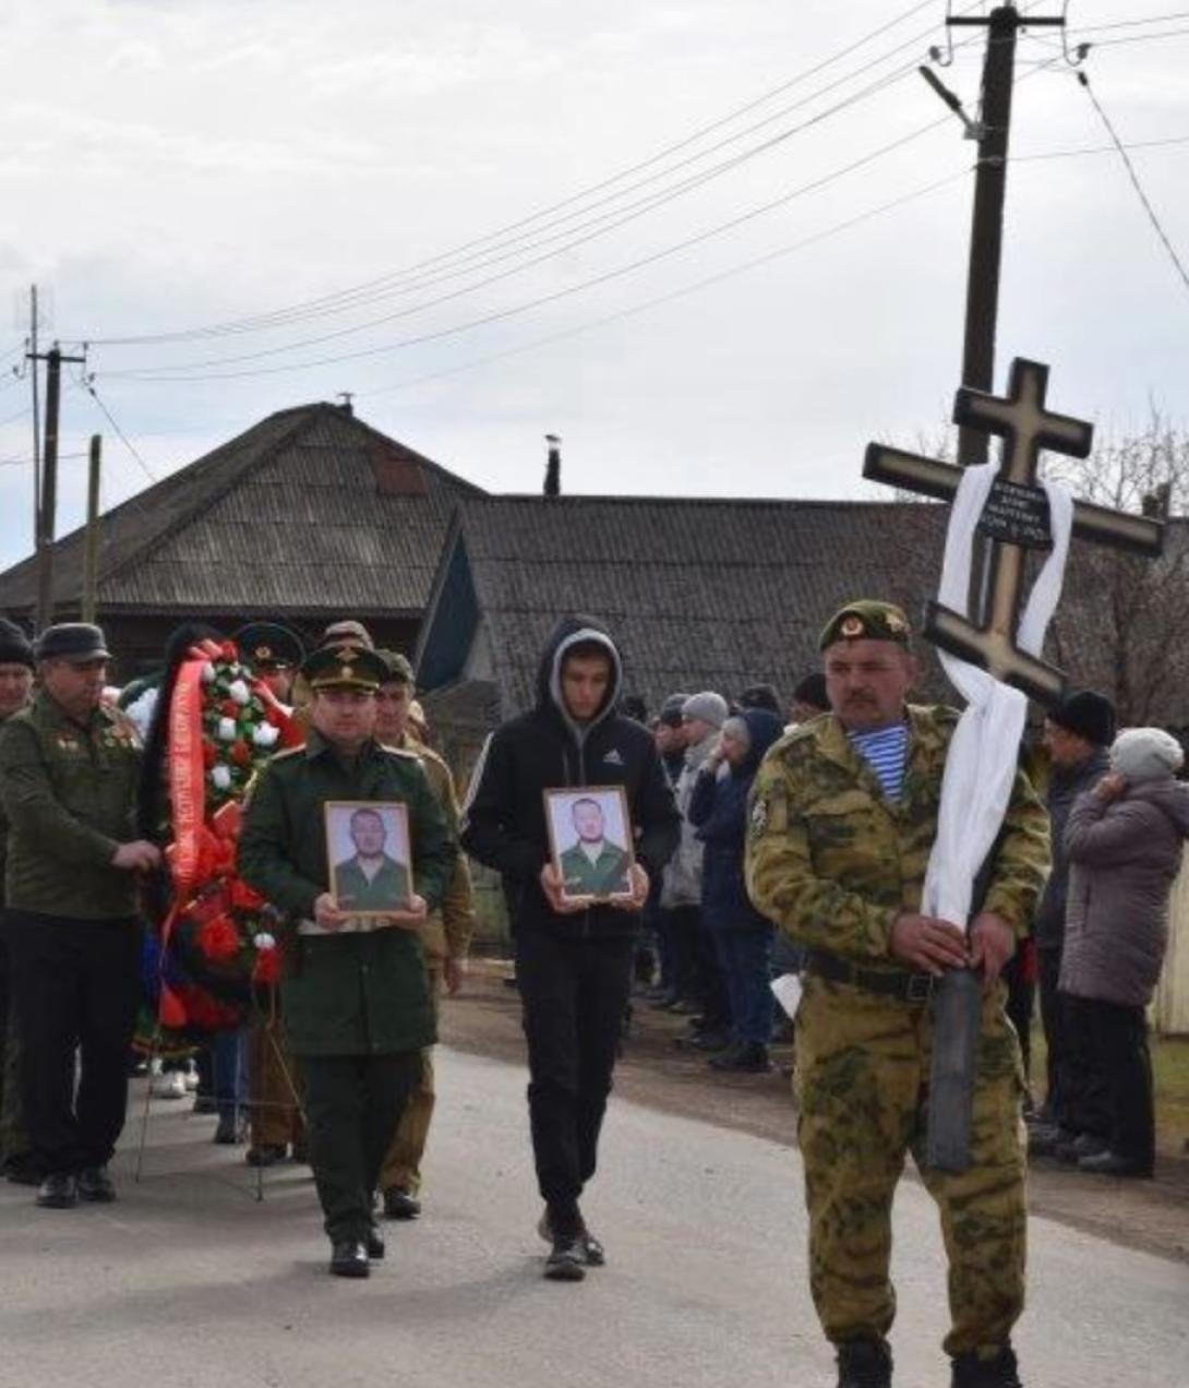
[[[920,911],[957,718],[909,706],[899,802],[885,798],[832,713],[781,738],[752,787],[745,873],[756,909],[799,944],[891,966],[892,922]],[[1021,772],[980,909],[1024,936],[1047,872],[1049,819]]]

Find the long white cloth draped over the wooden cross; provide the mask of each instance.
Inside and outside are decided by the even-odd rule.
[[[967,468],[950,514],[942,565],[941,604],[970,615],[974,532],[995,482],[996,466]],[[1061,597],[1074,501],[1056,482],[1041,483],[1049,497],[1053,548],[1036,577],[1020,619],[1018,645],[1039,657]],[[1024,736],[1028,700],[986,670],[946,651],[938,652],[946,676],[966,700],[942,780],[938,834],[930,855],[921,911],[966,929],[974,881],[1003,826]]]

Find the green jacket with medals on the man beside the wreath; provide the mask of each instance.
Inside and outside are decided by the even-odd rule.
[[[82,725],[40,690],[4,723],[8,906],[79,920],[135,913],[135,874],[111,859],[136,837],[139,770],[136,729],[118,709],[101,705]]]

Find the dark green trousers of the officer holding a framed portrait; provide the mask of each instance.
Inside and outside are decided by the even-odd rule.
[[[332,1241],[368,1237],[384,1153],[420,1072],[420,1051],[301,1056],[309,1165]]]

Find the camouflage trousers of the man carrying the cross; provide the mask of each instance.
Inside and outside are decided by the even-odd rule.
[[[1024,1309],[1027,1144],[1020,1045],[1002,990],[982,1010],[973,1162],[924,1165],[932,1015],[846,984],[805,980],[796,1017],[798,1137],[813,1302],[828,1339],[884,1339],[892,1196],[912,1152],[941,1210],[949,1260],[949,1355],[1007,1342]]]

